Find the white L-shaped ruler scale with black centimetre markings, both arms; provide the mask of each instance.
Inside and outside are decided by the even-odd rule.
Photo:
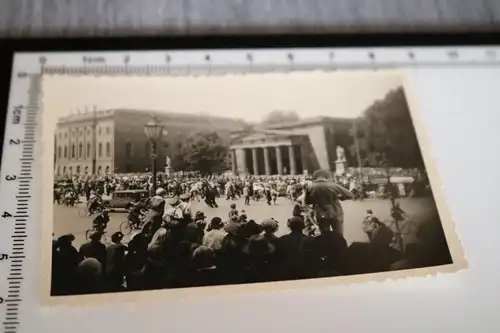
[[[20,332],[37,303],[43,74],[217,75],[298,70],[493,66],[500,46],[20,53],[14,57],[0,176],[0,312]],[[89,101],[91,102],[91,101]],[[45,193],[52,193],[46,190]],[[50,243],[43,246],[51,246]]]

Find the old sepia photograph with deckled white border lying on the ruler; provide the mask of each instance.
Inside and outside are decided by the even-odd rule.
[[[51,296],[454,262],[400,72],[54,74],[43,90]]]

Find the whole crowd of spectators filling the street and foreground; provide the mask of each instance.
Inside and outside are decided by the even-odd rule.
[[[258,186],[254,187],[256,183]],[[59,200],[68,191],[90,199],[93,192],[109,194],[123,188],[150,190],[151,179],[77,179],[69,188],[60,192]],[[255,221],[247,216],[244,206],[236,204],[231,205],[227,216],[210,221],[203,212],[191,211],[192,200],[205,199],[209,207],[216,205],[218,197],[258,200],[255,197],[258,194],[251,192],[255,188],[268,204],[272,204],[279,191],[290,196],[295,205],[286,223],[272,218]],[[371,242],[348,246],[343,237],[340,201],[350,198],[353,198],[351,191],[333,182],[331,175],[322,170],[310,179],[190,175],[180,181],[164,177],[159,179],[159,189],[145,202],[142,229],[131,236],[127,245],[122,244],[121,232],[113,233],[111,244],[104,244],[103,230],[98,229],[79,249],[73,246],[75,237],[71,234],[54,239],[51,293],[71,295],[281,281],[415,268],[431,265],[432,260],[440,263],[448,260],[434,253],[436,244],[442,243],[429,240],[429,235],[435,237],[436,233],[425,231],[436,223],[422,224],[419,233],[422,242],[403,251],[394,244],[397,234],[372,212],[363,221]],[[404,218],[404,212],[393,205],[392,216]],[[285,225],[288,232],[276,236],[278,228]],[[447,247],[446,251],[443,249],[440,248],[440,253],[447,251]]]

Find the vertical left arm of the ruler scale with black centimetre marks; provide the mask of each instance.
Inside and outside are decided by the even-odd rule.
[[[0,309],[3,332],[19,332],[40,96],[40,70],[14,63],[0,178]],[[33,68],[33,66],[29,66]],[[37,66],[39,67],[39,66]]]

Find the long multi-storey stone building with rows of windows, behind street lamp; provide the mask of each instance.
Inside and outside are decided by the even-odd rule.
[[[150,171],[151,145],[144,125],[153,115],[166,132],[157,143],[159,171],[165,168],[169,149],[190,133],[212,130],[229,139],[231,130],[245,127],[242,121],[230,118],[173,112],[119,109],[70,115],[57,123],[56,175],[91,174],[94,152],[97,174]]]

